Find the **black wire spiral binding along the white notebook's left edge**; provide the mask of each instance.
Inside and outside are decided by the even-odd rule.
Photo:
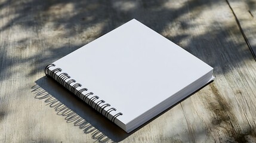
[[[55,64],[48,64],[48,66],[45,67],[44,72],[47,77],[51,77],[51,78],[55,79],[58,83],[60,83],[60,85],[64,86],[64,88],[66,88],[66,89],[69,89],[70,92],[75,94],[76,97],[80,98],[84,102],[86,102],[88,100],[87,104],[90,105],[95,110],[97,110],[99,113],[103,114],[103,116],[107,117],[107,119],[109,119],[108,116],[109,116],[110,112],[116,111],[116,108],[111,107],[111,105],[106,103],[104,100],[100,100],[100,97],[94,95],[93,92],[88,92],[85,95],[82,94],[82,92],[86,92],[86,91],[88,91],[88,89],[82,88],[82,89],[78,90],[77,88],[82,87],[82,85],[80,83],[76,83],[75,79],[71,79],[69,74],[60,73],[57,75],[57,73],[61,72],[62,69],[55,68],[53,70],[49,70],[50,67],[55,67]],[[73,83],[73,85],[71,85],[71,83]],[[71,86],[71,88],[69,88],[70,86]],[[90,95],[94,95],[94,96],[90,97]],[[99,101],[95,102],[96,100],[99,100]],[[109,108],[109,109],[105,110],[105,112],[103,112],[105,108]],[[112,116],[112,118],[110,120],[115,123],[116,118],[121,115],[122,115],[121,112],[116,113],[115,115]]]

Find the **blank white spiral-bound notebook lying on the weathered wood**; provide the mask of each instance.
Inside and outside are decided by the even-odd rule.
[[[45,67],[126,132],[214,79],[213,68],[133,19]]]

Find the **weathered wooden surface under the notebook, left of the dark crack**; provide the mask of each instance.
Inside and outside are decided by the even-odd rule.
[[[255,46],[256,2],[228,2],[0,1],[0,142],[256,142],[256,62],[235,18]],[[43,71],[131,18],[214,67],[216,79],[126,134]]]

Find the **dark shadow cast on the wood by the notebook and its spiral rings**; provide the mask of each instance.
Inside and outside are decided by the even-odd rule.
[[[78,128],[83,130],[86,134],[90,133],[91,138],[98,142],[120,142],[124,140],[206,86],[203,86],[165,111],[162,111],[162,113],[153,117],[137,129],[132,130],[132,132],[127,133],[114,123],[110,122],[110,120],[107,120],[106,117],[95,111],[94,108],[85,104],[84,101],[76,98],[75,95],[67,89],[64,89],[63,86],[55,82],[53,79],[44,76],[41,77],[41,79],[36,80],[35,83],[36,85],[32,86],[31,89],[36,95],[36,99],[43,100],[47,103],[46,105],[54,108],[58,116],[63,116],[67,123],[73,123],[74,126],[78,126]],[[203,130],[198,130],[198,133],[200,132],[203,132]],[[183,135],[183,133],[178,134]]]

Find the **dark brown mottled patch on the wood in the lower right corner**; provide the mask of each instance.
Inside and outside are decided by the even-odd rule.
[[[218,133],[213,136],[217,142],[255,142],[256,130],[250,125],[241,125],[238,116],[233,113],[232,106],[224,98],[214,83],[209,85],[214,96],[203,96],[203,104],[213,114],[211,124],[206,125],[209,133]]]

